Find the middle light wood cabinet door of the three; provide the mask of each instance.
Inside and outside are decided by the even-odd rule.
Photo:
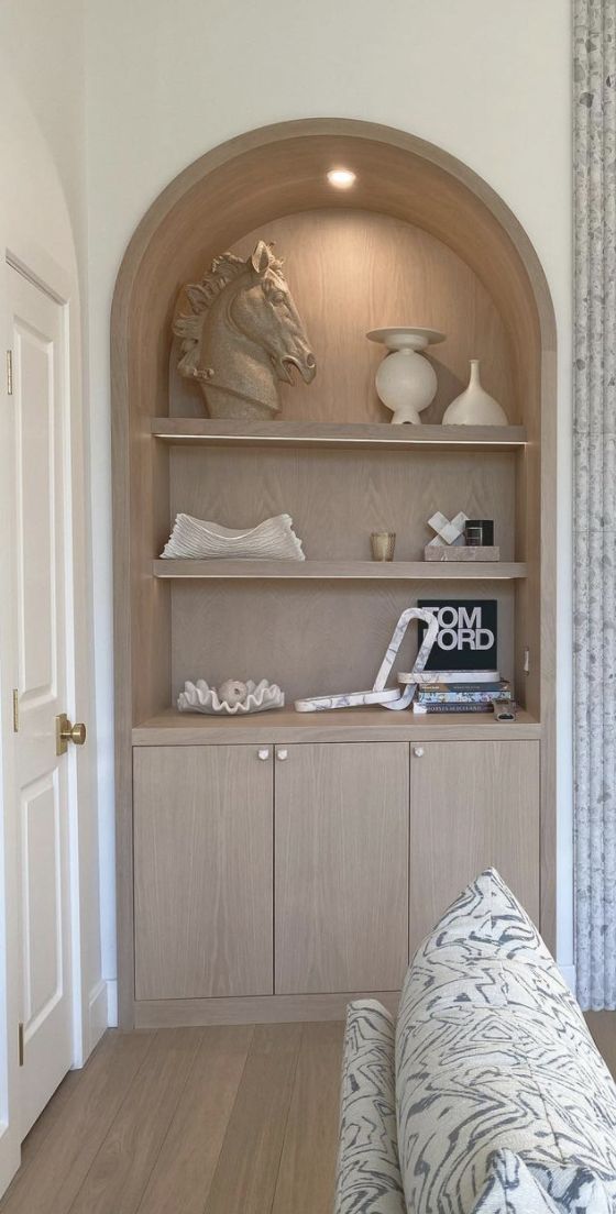
[[[275,778],[276,993],[399,989],[408,745],[278,747]]]

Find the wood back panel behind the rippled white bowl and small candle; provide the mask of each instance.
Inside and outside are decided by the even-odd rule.
[[[513,561],[514,461],[508,453],[176,447],[169,526],[181,511],[226,527],[287,512],[306,558],[366,561],[371,532],[395,531],[396,560],[419,561],[433,514],[463,510],[495,520],[501,558]]]

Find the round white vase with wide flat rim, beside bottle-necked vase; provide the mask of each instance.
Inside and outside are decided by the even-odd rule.
[[[391,409],[395,425],[420,425],[419,416],[436,396],[436,371],[420,351],[445,334],[435,329],[373,329],[367,334],[371,341],[379,341],[389,353],[382,362],[375,386],[379,399]]]

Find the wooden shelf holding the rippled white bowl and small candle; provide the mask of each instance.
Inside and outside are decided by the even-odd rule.
[[[428,561],[194,561],[157,560],[156,578],[208,578],[216,580],[321,580],[321,582],[497,582],[525,578],[521,561],[475,563]]]

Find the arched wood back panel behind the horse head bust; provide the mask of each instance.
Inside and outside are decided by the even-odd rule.
[[[273,240],[317,359],[317,376],[281,384],[287,420],[384,421],[391,414],[374,388],[385,350],[366,339],[371,329],[418,324],[439,329],[446,341],[430,347],[439,380],[424,422],[440,422],[450,402],[468,384],[469,359],[481,359],[484,386],[515,424],[520,403],[510,339],[480,278],[453,250],[429,232],[389,215],[356,210],[304,211],[272,219],[232,245],[247,257],[258,239]],[[221,248],[217,250],[222,253]],[[196,261],[198,282],[209,268]],[[187,307],[182,296],[180,307]],[[179,416],[204,416],[197,384],[177,373],[170,358],[170,408]]]

